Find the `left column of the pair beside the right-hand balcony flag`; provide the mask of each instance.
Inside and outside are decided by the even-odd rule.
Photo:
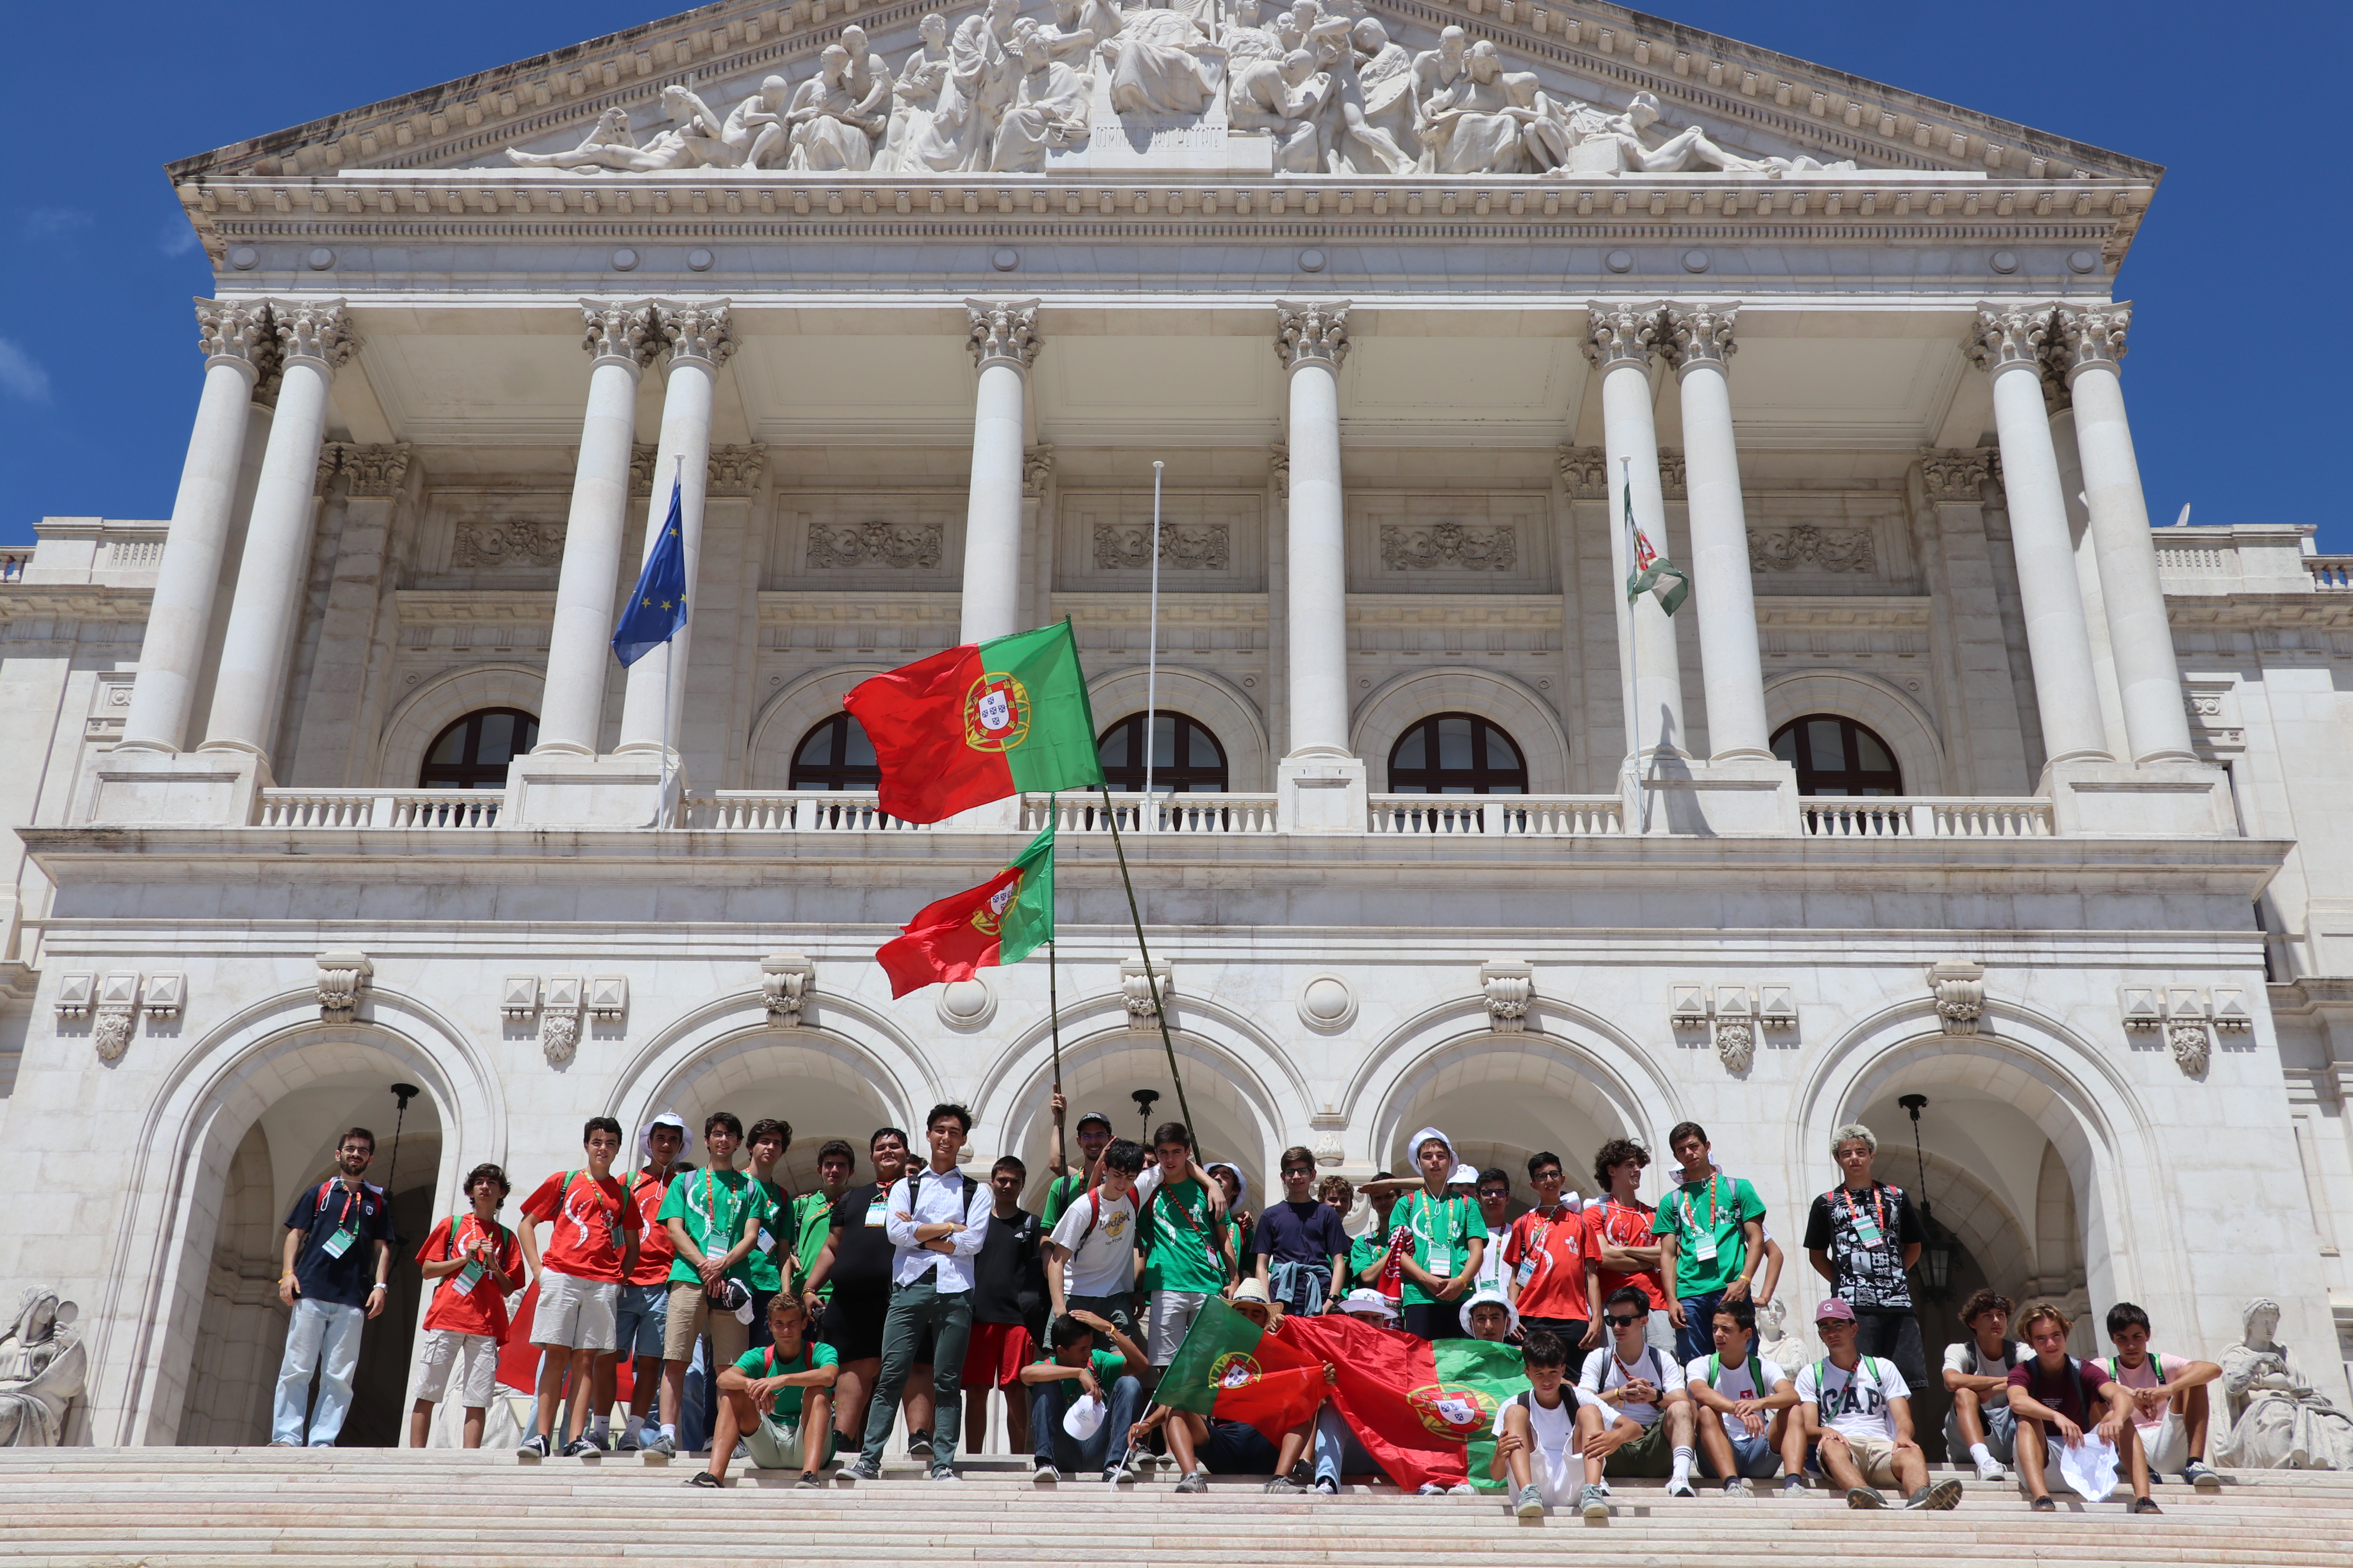
[[[1626,484],[1633,515],[1666,555],[1666,496],[1659,491],[1659,425],[1649,411],[1649,357],[1661,346],[1659,306],[1588,306],[1586,360],[1602,376],[1602,449],[1609,458],[1609,599],[1619,618],[1619,668],[1633,665],[1626,691],[1626,743],[1633,755],[1682,752],[1682,665],[1675,623],[1652,595],[1626,602],[1633,574],[1626,541]],[[1741,564],[1746,567],[1746,543]],[[1755,609],[1751,609],[1751,618]]]

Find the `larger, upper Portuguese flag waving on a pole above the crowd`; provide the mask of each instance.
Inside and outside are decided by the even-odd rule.
[[[882,811],[936,823],[1021,790],[1092,790],[1094,710],[1071,623],[875,675],[842,698],[882,766]]]

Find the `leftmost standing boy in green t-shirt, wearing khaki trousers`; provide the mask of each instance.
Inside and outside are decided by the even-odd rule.
[[[725,1291],[725,1281],[734,1281],[736,1300],[744,1309],[751,1307],[746,1260],[760,1234],[760,1190],[734,1168],[741,1143],[744,1124],[734,1112],[711,1112],[704,1119],[708,1164],[680,1175],[661,1199],[659,1218],[678,1260],[671,1262],[671,1316],[661,1333],[661,1436],[647,1443],[647,1453],[678,1453],[678,1408],[685,1403],[687,1363],[694,1361],[704,1326],[711,1326],[715,1363],[725,1366],[751,1349],[751,1324],[729,1309],[734,1302],[711,1309],[713,1291]]]

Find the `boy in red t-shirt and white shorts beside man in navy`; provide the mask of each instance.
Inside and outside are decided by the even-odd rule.
[[[424,1448],[433,1406],[456,1368],[466,1401],[466,1446],[482,1446],[482,1418],[499,1387],[499,1345],[506,1342],[506,1298],[522,1288],[522,1246],[499,1225],[511,1187],[499,1166],[466,1175],[473,1213],[449,1215],[416,1248],[419,1274],[433,1284],[424,1345],[416,1349],[416,1403],[409,1408],[409,1448]]]

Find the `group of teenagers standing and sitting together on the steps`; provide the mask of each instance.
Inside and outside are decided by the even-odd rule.
[[[513,1229],[499,1220],[504,1171],[478,1166],[471,1211],[440,1220],[416,1253],[433,1298],[412,1446],[426,1443],[452,1378],[464,1441],[480,1446],[511,1333],[506,1300],[536,1281],[525,1458],[673,1455],[689,1371],[718,1368],[699,1378],[708,1462],[689,1486],[725,1483],[736,1460],[821,1486],[835,1450],[856,1450],[845,1474],[880,1479],[901,1410],[908,1455],[955,1481],[958,1439],[979,1448],[991,1389],[1007,1394],[1012,1446],[1045,1483],[1066,1472],[1132,1481],[1162,1455],[1179,1493],[1207,1490],[1212,1474],[1320,1493],[1344,1476],[1379,1479],[1332,1401],[1280,1441],[1148,1403],[1217,1298],[1268,1333],[1289,1314],[1344,1312],[1421,1340],[1518,1345],[1529,1387],[1494,1415],[1489,1481],[1522,1516],[1607,1516],[1612,1479],[1666,1479],[1671,1497],[1692,1497],[1699,1479],[1753,1495],[1779,1474],[1784,1493],[1819,1486],[1857,1509],[1887,1507],[1887,1488],[1911,1509],[1960,1500],[1960,1481],[1929,1481],[1911,1418],[1927,1366],[1908,1269],[1927,1232],[1911,1197],[1873,1175],[1866,1126],[1833,1133],[1840,1180],[1812,1201],[1802,1239],[1828,1284],[1814,1314],[1824,1354],[1784,1368],[1758,1349],[1781,1248],[1755,1187],[1713,1161],[1692,1121],[1668,1133],[1678,1171],[1657,1206],[1638,1194],[1649,1152],[1614,1138],[1593,1159],[1598,1197],[1572,1192],[1560,1157],[1541,1152],[1527,1161],[1537,1204],[1508,1215],[1511,1175],[1459,1161],[1442,1131],[1421,1128],[1407,1145],[1412,1175],[1362,1185],[1318,1178],[1313,1152],[1285,1150],[1282,1199],[1249,1211],[1242,1173],[1202,1166],[1184,1124],[1155,1128],[1146,1150],[1089,1112],[1068,1159],[1064,1110],[1056,1093],[1042,1213],[1021,1206],[1021,1159],[998,1159],[986,1180],[962,1173],[962,1105],[932,1107],[922,1154],[904,1131],[875,1131],[866,1182],[854,1182],[852,1145],[828,1140],[802,1194],[776,1175],[791,1126],[765,1119],[746,1133],[729,1112],[704,1121],[701,1164],[682,1159],[685,1121],[654,1117],[635,1168],[616,1168],[621,1126],[591,1119],[584,1166],[551,1173]],[[351,1312],[355,1359],[360,1316],[381,1309],[395,1239],[381,1190],[360,1180],[372,1152],[353,1128],[339,1175],[287,1218],[280,1293],[296,1319],[273,1441],[304,1441],[301,1396],[322,1342],[308,1441],[334,1441],[336,1314]],[[367,1272],[376,1284],[351,1307]],[[306,1333],[306,1307],[329,1319],[325,1333]],[[2017,1321],[2024,1345],[2009,1338],[2012,1312],[1979,1291],[1960,1312],[1967,1338],[1944,1354],[1946,1446],[1979,1479],[2005,1481],[2014,1467],[2031,1507],[2049,1512],[2078,1450],[2111,1462],[2144,1514],[2158,1512],[2160,1474],[2221,1483],[2205,1465],[2217,1363],[2153,1352],[2148,1314],[2129,1302],[2108,1312],[2115,1354],[2099,1361],[2068,1354],[2059,1307]]]

